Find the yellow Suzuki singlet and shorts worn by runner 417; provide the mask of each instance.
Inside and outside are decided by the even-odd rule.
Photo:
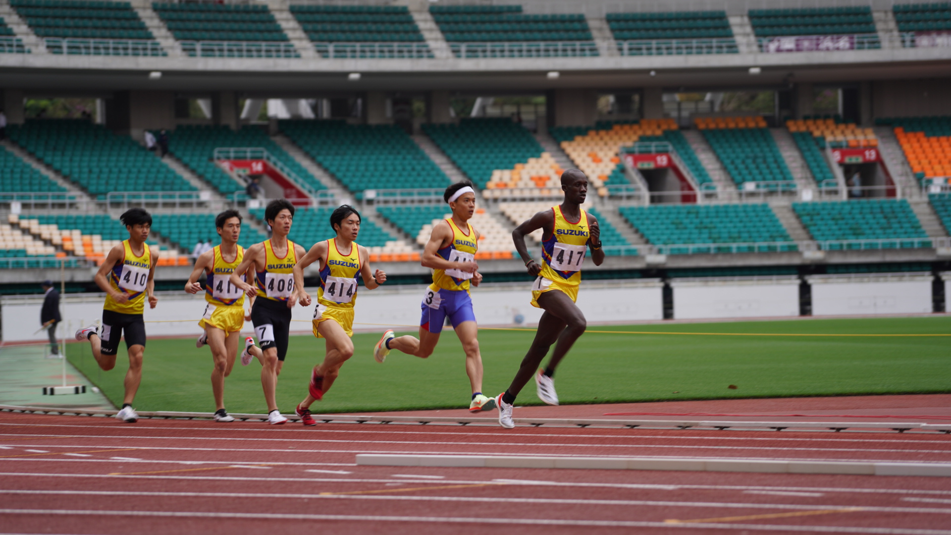
[[[577,301],[581,265],[588,252],[588,212],[581,210],[581,218],[571,222],[561,213],[561,207],[553,207],[552,211],[554,231],[542,242],[541,272],[532,285],[534,307],[538,307],[539,295],[553,289],[561,290]]]

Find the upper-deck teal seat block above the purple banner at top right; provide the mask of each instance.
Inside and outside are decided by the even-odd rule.
[[[749,10],[749,22],[757,37],[875,33],[875,21],[868,6]]]

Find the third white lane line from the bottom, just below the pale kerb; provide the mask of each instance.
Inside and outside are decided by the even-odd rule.
[[[29,478],[82,478],[82,479],[133,479],[133,480],[184,480],[184,481],[235,481],[235,482],[284,482],[284,483],[388,483],[391,480],[367,478],[268,478],[237,476],[184,476],[184,475],[121,475],[107,474],[64,474],[62,472],[0,472],[0,476],[21,476]],[[410,482],[410,480],[407,480]],[[680,484],[638,484],[638,483],[576,483],[503,480],[506,485],[547,485],[584,488],[629,488],[635,490],[793,490],[803,492],[843,492],[856,494],[924,494],[930,496],[951,496],[951,490],[931,490],[915,488],[864,488],[834,486],[766,486],[766,485],[680,485]],[[499,482],[485,480],[418,480],[410,483],[453,484],[453,485],[492,485]]]

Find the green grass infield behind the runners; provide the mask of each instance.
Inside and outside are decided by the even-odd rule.
[[[744,333],[951,333],[951,317],[799,320],[594,330]],[[534,332],[481,330],[484,390],[494,396],[512,380]],[[355,412],[469,405],[464,355],[452,330],[429,359],[394,351],[382,365],[372,356],[378,334],[354,336],[356,354],[315,412]],[[291,338],[278,403],[291,412],[306,394],[323,341]],[[128,366],[125,346],[115,369],[100,371],[87,344],[70,344],[68,359],[115,404]],[[140,410],[211,412],[211,354],[194,339],[151,340],[146,347]],[[779,337],[586,333],[558,368],[563,404],[658,400],[951,392],[951,337]],[[261,366],[236,363],[225,384],[231,412],[265,411]],[[737,386],[728,389],[729,385]],[[540,405],[530,383],[519,405]]]

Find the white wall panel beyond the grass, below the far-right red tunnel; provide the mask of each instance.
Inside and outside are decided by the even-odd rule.
[[[813,316],[932,311],[930,274],[814,275],[808,280]]]

